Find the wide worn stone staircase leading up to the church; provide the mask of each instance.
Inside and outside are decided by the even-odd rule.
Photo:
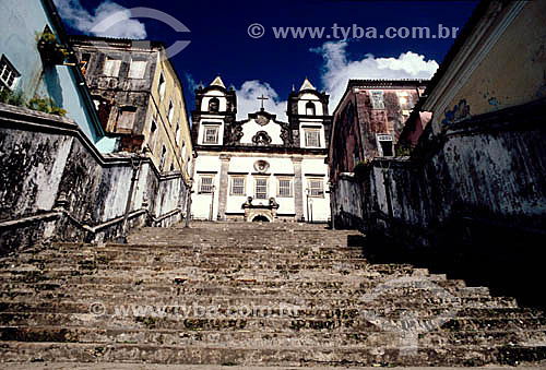
[[[245,223],[35,246],[0,260],[0,361],[545,363],[541,310],[363,248],[357,231]]]

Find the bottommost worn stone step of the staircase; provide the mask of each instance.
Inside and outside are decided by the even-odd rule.
[[[237,348],[219,346],[167,346],[143,344],[79,344],[5,342],[0,361],[145,362],[258,366],[373,366],[400,363],[397,346],[299,347],[297,349]],[[545,347],[420,347],[415,356],[404,356],[405,366],[485,366],[515,361],[539,361]]]

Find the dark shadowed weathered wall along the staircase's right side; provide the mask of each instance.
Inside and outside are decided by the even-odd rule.
[[[337,182],[335,219],[349,213],[377,246],[394,240],[391,258],[546,303],[533,289],[546,237],[545,109],[542,99],[476,116],[424,140],[411,159],[375,159],[361,193]]]

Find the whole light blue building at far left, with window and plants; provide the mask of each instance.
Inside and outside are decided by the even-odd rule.
[[[100,151],[112,152],[51,0],[0,2],[0,92],[56,108]]]

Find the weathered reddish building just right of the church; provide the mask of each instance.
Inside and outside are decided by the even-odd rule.
[[[349,80],[334,110],[330,176],[352,172],[360,160],[392,157],[423,80]]]

